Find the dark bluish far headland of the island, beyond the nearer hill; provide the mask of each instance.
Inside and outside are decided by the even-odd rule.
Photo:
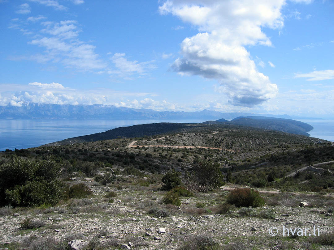
[[[205,124],[231,124],[243,127],[262,128],[267,130],[277,130],[291,134],[310,136],[307,132],[313,127],[305,122],[295,121],[292,119],[282,119],[266,116],[246,116],[236,117],[231,121],[219,119],[216,121],[207,121]]]

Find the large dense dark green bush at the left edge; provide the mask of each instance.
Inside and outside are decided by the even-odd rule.
[[[14,156],[0,165],[0,205],[56,204],[64,195],[59,173],[60,165],[52,157],[31,161]]]

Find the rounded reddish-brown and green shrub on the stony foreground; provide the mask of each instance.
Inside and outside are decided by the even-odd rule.
[[[251,188],[233,189],[226,201],[236,207],[260,207],[265,203],[259,192]]]

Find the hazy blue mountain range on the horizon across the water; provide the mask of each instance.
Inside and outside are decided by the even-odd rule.
[[[24,103],[21,107],[0,106],[0,119],[47,119],[47,118],[74,118],[74,119],[113,119],[113,120],[186,120],[186,119],[233,119],[239,116],[267,116],[285,119],[316,119],[289,115],[261,115],[252,113],[222,113],[204,109],[196,112],[184,111],[155,111],[152,109],[133,109],[115,107],[112,105],[59,105]],[[317,118],[318,119],[318,118]]]

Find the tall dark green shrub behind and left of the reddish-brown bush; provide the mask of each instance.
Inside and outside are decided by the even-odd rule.
[[[195,181],[200,187],[212,190],[225,184],[223,178],[217,162],[201,161],[196,166]]]

